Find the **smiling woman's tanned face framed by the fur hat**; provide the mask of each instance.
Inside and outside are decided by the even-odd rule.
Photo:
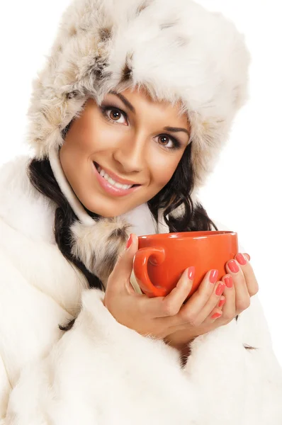
[[[101,106],[89,98],[60,149],[64,174],[88,210],[122,215],[168,183],[189,140],[187,115],[179,115],[179,107],[129,89],[107,94]],[[138,186],[128,190],[115,182]]]

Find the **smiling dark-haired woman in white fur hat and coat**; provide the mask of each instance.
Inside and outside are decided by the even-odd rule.
[[[192,1],[67,8],[33,86],[33,158],[0,173],[1,425],[281,424],[241,247],[185,305],[193,264],[167,297],[130,284],[137,235],[223,229],[197,193],[248,65],[232,23]]]

